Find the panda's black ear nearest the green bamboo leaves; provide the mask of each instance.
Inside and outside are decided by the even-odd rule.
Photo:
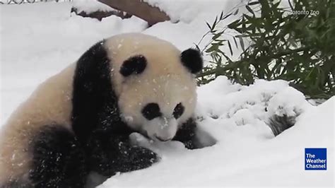
[[[192,74],[199,73],[204,66],[201,53],[197,49],[186,49],[180,55],[182,64],[189,69]]]

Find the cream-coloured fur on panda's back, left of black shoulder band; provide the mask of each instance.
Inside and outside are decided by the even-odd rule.
[[[0,184],[11,178],[28,179],[32,143],[45,124],[71,129],[71,95],[74,64],[47,79],[1,127]]]

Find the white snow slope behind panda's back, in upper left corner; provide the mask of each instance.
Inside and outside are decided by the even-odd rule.
[[[1,116],[4,124],[36,86],[105,37],[141,32],[146,22],[117,16],[98,21],[70,14],[71,3],[0,6]]]

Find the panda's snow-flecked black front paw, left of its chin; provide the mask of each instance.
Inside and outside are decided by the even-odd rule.
[[[129,151],[129,161],[133,170],[148,168],[158,160],[158,155],[147,148],[133,146]]]

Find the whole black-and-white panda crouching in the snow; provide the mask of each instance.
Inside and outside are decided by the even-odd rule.
[[[196,146],[196,49],[140,33],[115,35],[40,84],[0,133],[0,187],[84,187],[89,172],[110,177],[148,168],[158,155],[131,145]]]

